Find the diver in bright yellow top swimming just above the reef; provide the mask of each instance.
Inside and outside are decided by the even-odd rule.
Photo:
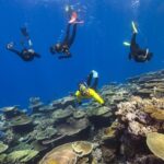
[[[94,82],[91,85],[92,79],[94,79]],[[98,84],[98,73],[92,70],[87,77],[86,82],[81,82],[79,84],[79,90],[75,92],[78,103],[81,104],[82,99],[94,98],[97,103],[104,105],[104,99],[96,92],[97,84]]]

